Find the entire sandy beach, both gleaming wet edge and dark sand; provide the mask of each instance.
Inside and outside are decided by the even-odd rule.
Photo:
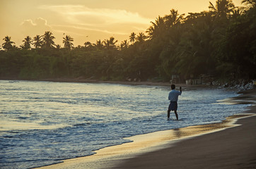
[[[255,100],[254,89],[228,101],[253,104]],[[43,168],[255,168],[255,113],[252,106],[222,123],[129,137],[133,142]]]

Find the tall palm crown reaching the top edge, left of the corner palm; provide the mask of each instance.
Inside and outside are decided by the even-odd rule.
[[[235,5],[233,4],[232,0],[217,0],[216,5],[210,2],[209,9],[214,13],[216,16],[226,17],[232,11]]]

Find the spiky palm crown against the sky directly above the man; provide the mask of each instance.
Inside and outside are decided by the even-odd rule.
[[[175,9],[170,10],[170,15],[165,15],[165,23],[168,27],[172,27],[173,25],[176,25],[178,23],[181,23],[184,18],[184,13],[179,14],[178,11],[175,11]]]

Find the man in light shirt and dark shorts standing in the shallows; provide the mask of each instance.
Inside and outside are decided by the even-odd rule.
[[[170,104],[168,107],[168,115],[167,115],[168,120],[170,120],[170,111],[174,111],[177,120],[179,120],[178,113],[177,113],[177,108],[178,108],[177,101],[178,101],[178,96],[181,95],[181,93],[182,93],[182,91],[181,91],[182,88],[180,87],[180,91],[175,90],[175,84],[172,84],[170,86],[170,88],[172,89],[172,91],[170,91],[169,96],[168,96],[168,99],[170,100]]]

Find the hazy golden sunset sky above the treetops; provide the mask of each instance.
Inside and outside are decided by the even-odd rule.
[[[211,1],[215,4],[215,1]],[[241,0],[233,0],[235,6]],[[129,39],[131,32],[145,32],[158,15],[208,11],[209,0],[0,0],[0,45],[7,35],[19,46],[26,36],[51,31],[62,44],[69,35],[74,45],[115,37]]]

